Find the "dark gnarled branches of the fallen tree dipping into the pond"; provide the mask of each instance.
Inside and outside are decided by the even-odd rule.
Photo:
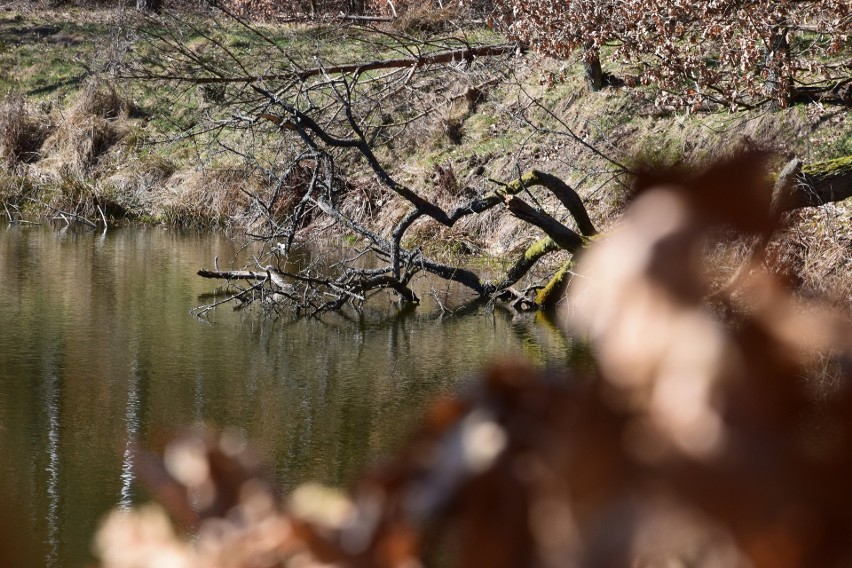
[[[198,275],[204,278],[262,281],[267,286],[267,300],[286,300],[297,309],[308,310],[309,313],[339,309],[347,303],[357,305],[364,302],[370,292],[382,289],[393,290],[405,302],[419,303],[419,298],[409,284],[420,271],[458,282],[471,289],[479,298],[499,297],[513,300],[514,305],[519,308],[529,308],[535,305],[526,299],[527,293],[533,290],[517,292],[512,290],[512,286],[547,254],[558,250],[575,253],[589,242],[589,237],[597,234],[577,193],[556,176],[536,170],[527,172],[487,195],[465,201],[449,212],[433,203],[415,198],[412,200],[410,212],[393,228],[391,239],[344,215],[332,200],[323,198],[322,194],[327,187],[322,184],[321,178],[315,176],[313,179],[316,180],[315,187],[309,189],[302,201],[320,209],[369,243],[368,249],[357,249],[351,259],[338,263],[342,267],[339,274],[318,274],[312,268],[292,272],[267,265],[262,271],[200,270]],[[518,197],[519,193],[534,186],[544,187],[565,205],[576,221],[579,233]],[[416,194],[412,192],[411,195]],[[418,206],[421,203],[424,205]],[[499,280],[484,280],[472,270],[438,262],[423,254],[419,248],[411,249],[401,245],[408,229],[421,217],[428,216],[446,226],[452,226],[462,217],[503,205],[518,218],[541,228],[547,236],[524,250]],[[301,211],[306,211],[306,208],[301,208]],[[293,226],[299,226],[302,220],[295,217],[291,222]],[[294,232],[290,234],[293,235]],[[285,263],[290,243],[278,247],[275,254],[276,260],[279,261],[278,266]],[[378,268],[355,267],[354,260],[366,250],[385,260],[386,264]],[[233,297],[248,300],[246,290],[240,290]],[[251,299],[259,297],[252,295]]]

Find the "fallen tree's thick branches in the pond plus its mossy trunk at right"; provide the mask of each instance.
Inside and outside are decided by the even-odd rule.
[[[542,186],[552,193],[579,227],[579,232],[558,221],[554,216],[538,209],[518,197],[518,194],[533,186]],[[550,253],[564,250],[572,255],[580,252],[598,234],[589,218],[582,200],[569,185],[558,177],[532,170],[501,188],[476,199],[464,202],[450,212],[428,204],[428,209],[418,207],[412,201],[413,209],[393,230],[393,240],[387,240],[367,227],[355,223],[344,216],[331,203],[316,197],[306,200],[324,213],[335,217],[341,223],[358,232],[370,243],[370,250],[388,263],[380,268],[358,269],[347,267],[337,276],[310,275],[307,273],[280,270],[271,265],[263,271],[221,271],[200,270],[199,276],[229,281],[254,280],[266,285],[266,298],[270,301],[287,301],[300,310],[311,313],[340,309],[345,304],[363,303],[369,293],[375,290],[391,289],[404,302],[418,303],[419,298],[409,287],[412,277],[423,270],[441,278],[454,280],[470,288],[479,298],[509,301],[519,310],[538,309],[551,300],[555,290],[561,290],[572,260],[563,263],[561,268],[543,287],[532,287],[523,292],[512,289],[535,264]],[[815,162],[805,167],[798,160],[791,161],[779,176],[772,202],[767,202],[767,216],[777,216],[783,212],[802,207],[816,207],[838,202],[852,196],[852,159],[839,158]],[[504,206],[512,215],[539,228],[546,236],[524,250],[512,266],[500,279],[483,280],[475,272],[429,259],[419,249],[407,249],[400,245],[406,231],[422,216],[431,216],[451,226],[465,215],[481,213],[492,207]],[[751,265],[754,258],[769,241],[771,233],[758,238],[747,255],[743,266]],[[359,251],[358,254],[362,254]],[[738,272],[740,274],[740,272]],[[735,277],[736,278],[736,277]],[[245,300],[245,291],[233,296]],[[257,296],[252,296],[256,298]],[[320,300],[323,298],[323,300]],[[207,308],[207,307],[205,307]]]

